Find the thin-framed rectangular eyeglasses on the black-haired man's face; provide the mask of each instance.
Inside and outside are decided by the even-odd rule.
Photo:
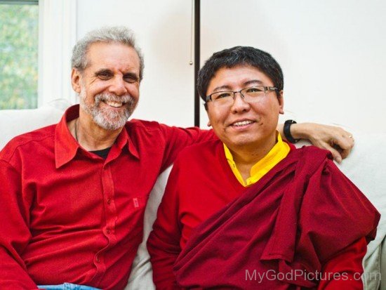
[[[206,96],[206,102],[212,101],[213,105],[232,105],[236,93],[240,93],[241,98],[247,103],[255,103],[270,91],[278,91],[274,86],[251,86],[240,91],[218,91]]]

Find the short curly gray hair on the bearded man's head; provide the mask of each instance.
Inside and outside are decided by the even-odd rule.
[[[97,42],[111,43],[118,42],[135,49],[135,52],[140,58],[140,81],[143,76],[143,69],[145,67],[143,62],[143,55],[140,48],[135,44],[135,37],[131,29],[124,26],[117,27],[102,27],[88,32],[82,39],[80,39],[72,50],[71,67],[83,72],[87,67],[87,51],[91,44]]]

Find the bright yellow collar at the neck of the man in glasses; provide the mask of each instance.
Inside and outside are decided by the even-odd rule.
[[[288,152],[290,152],[290,147],[287,143],[283,142],[281,139],[281,136],[279,132],[277,132],[277,143],[272,147],[272,149],[265,155],[265,157],[262,157],[255,165],[251,168],[251,176],[246,179],[246,182],[244,182],[241,173],[239,172],[239,169],[237,169],[236,164],[234,163],[232,153],[228,149],[227,145],[224,145],[225,150],[225,157],[227,158],[227,162],[232,169],[232,172],[234,173],[234,176],[236,176],[237,180],[239,180],[239,183],[243,186],[248,186],[253,183],[256,183],[262,176],[265,176],[265,174],[271,170],[276,164],[281,162],[286,156],[288,155]]]

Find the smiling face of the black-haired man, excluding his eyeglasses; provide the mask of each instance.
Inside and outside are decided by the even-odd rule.
[[[215,73],[206,95],[215,91],[240,91],[250,86],[274,86],[264,73],[251,65],[232,68],[222,67]],[[209,124],[215,134],[232,151],[256,150],[274,144],[279,114],[283,114],[281,98],[274,91],[267,91],[255,103],[246,103],[237,93],[232,105],[217,106],[208,102]]]

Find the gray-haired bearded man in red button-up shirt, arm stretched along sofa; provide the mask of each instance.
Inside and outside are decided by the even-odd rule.
[[[72,55],[80,106],[1,151],[0,289],[124,289],[157,176],[182,148],[215,138],[199,128],[127,122],[142,72],[130,30],[88,33]],[[291,127],[294,138],[301,128]],[[319,141],[336,136],[345,155],[349,135],[332,128]]]

